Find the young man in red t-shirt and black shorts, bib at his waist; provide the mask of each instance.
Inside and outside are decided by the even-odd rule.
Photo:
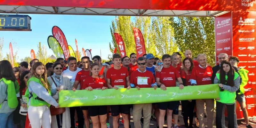
[[[112,57],[114,67],[107,71],[108,88],[127,88],[130,89],[129,73],[127,68],[121,66],[121,56],[115,53]],[[113,116],[113,128],[118,128],[119,114],[122,113],[124,119],[124,128],[129,128],[128,114],[130,113],[129,105],[112,105],[111,115]]]

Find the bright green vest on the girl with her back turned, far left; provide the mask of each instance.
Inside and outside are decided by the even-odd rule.
[[[19,93],[19,83],[15,81],[15,83],[11,80],[6,80],[2,78],[0,81],[4,81],[4,84],[7,85],[7,103],[10,108],[17,108],[18,99],[16,94]],[[3,103],[0,104],[0,108],[2,108]]]

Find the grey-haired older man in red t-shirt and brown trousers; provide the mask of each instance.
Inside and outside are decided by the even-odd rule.
[[[198,54],[197,60],[199,65],[195,66],[191,72],[191,85],[204,85],[212,84],[212,67],[206,63],[206,54]],[[212,128],[213,126],[213,99],[202,99],[196,100],[197,118],[199,120],[199,128],[204,128],[204,103],[206,105],[207,112],[207,127]]]

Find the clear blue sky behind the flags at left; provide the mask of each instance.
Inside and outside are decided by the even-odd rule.
[[[68,44],[76,50],[75,38],[78,42],[78,50],[92,49],[92,56],[100,55],[107,59],[109,42],[112,37],[109,26],[115,16],[87,16],[87,15],[43,15],[28,14],[31,20],[32,31],[0,31],[0,37],[4,37],[3,56],[9,53],[9,43],[12,42],[13,52],[18,51],[18,60],[30,57],[30,50],[37,52],[38,42],[46,46],[47,54],[52,55],[48,47],[47,38],[52,35],[54,25],[60,27],[65,34]]]

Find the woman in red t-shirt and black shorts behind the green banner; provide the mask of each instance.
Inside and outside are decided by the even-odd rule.
[[[84,81],[82,89],[93,91],[94,89],[107,89],[105,78],[99,77],[100,67],[97,63],[91,66],[92,76],[87,77]],[[106,128],[107,127],[107,106],[90,106],[88,107],[89,116],[92,119],[93,128]]]

